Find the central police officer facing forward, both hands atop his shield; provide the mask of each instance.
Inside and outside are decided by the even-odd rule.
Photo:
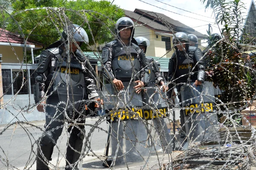
[[[102,67],[102,72],[104,77],[109,83],[116,86],[118,90],[124,89],[123,82],[135,81],[137,84],[134,89],[137,93],[140,93],[142,88],[146,86],[145,71],[143,71],[143,66],[145,66],[144,52],[137,46],[137,42],[134,39],[134,23],[128,17],[121,17],[116,22],[116,34],[117,38],[106,44],[102,49],[102,61],[104,66]],[[131,64],[132,63],[132,64]],[[139,73],[139,74],[138,74]],[[138,121],[131,120],[131,124],[135,124]],[[116,132],[111,135],[111,158],[115,156],[116,146],[119,142],[122,148],[122,136],[123,134],[123,122],[120,122],[118,128],[118,122],[112,122],[111,128],[112,132]],[[127,134],[127,132],[126,132]],[[117,139],[118,138],[118,141]],[[136,139],[131,139],[131,141]],[[131,141],[126,140],[126,148],[131,148]],[[129,145],[129,146],[128,146]],[[134,161],[141,159],[139,155],[134,154]],[[122,162],[122,150],[119,148],[117,156],[120,156]],[[117,160],[117,159],[116,159]],[[111,160],[103,163],[103,166],[110,167]]]

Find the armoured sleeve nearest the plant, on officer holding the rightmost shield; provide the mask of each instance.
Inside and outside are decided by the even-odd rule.
[[[203,55],[202,55],[201,49],[196,49],[194,52],[194,56],[198,66],[198,81],[201,81],[202,83],[204,83],[206,73],[204,71],[205,70],[204,58],[202,57]]]

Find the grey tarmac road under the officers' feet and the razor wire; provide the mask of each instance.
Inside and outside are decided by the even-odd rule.
[[[95,122],[95,118],[87,119],[87,124],[94,124]],[[44,123],[45,121],[32,121],[27,124],[0,125],[0,170],[36,170],[36,141],[44,130]],[[102,123],[99,126],[102,129],[107,129],[107,124]],[[54,148],[52,161],[50,161],[51,170],[55,170],[55,167],[58,167],[56,170],[64,170],[64,155],[67,147],[67,132],[65,128],[62,134],[58,140],[58,149]],[[102,162],[105,160],[106,139],[107,135],[105,133],[101,133],[100,130],[94,131],[90,137],[91,151],[87,150],[87,154],[84,154],[80,164],[81,170],[161,170],[163,164],[168,164],[169,160],[183,153],[182,151],[173,151],[171,154],[163,154],[161,148],[156,147],[157,152],[152,151],[149,158],[145,158],[143,162],[120,164],[105,168],[102,166]],[[186,146],[184,148],[186,149]],[[253,166],[250,167],[250,170],[256,170],[255,162],[252,164]],[[232,168],[232,170],[235,169],[239,169],[239,166]]]

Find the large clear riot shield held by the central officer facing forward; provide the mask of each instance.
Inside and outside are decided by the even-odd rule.
[[[147,160],[147,127],[143,121],[143,101],[133,82],[123,82],[118,91],[113,84],[106,84],[102,91],[107,121],[111,128],[111,159],[113,163]]]

